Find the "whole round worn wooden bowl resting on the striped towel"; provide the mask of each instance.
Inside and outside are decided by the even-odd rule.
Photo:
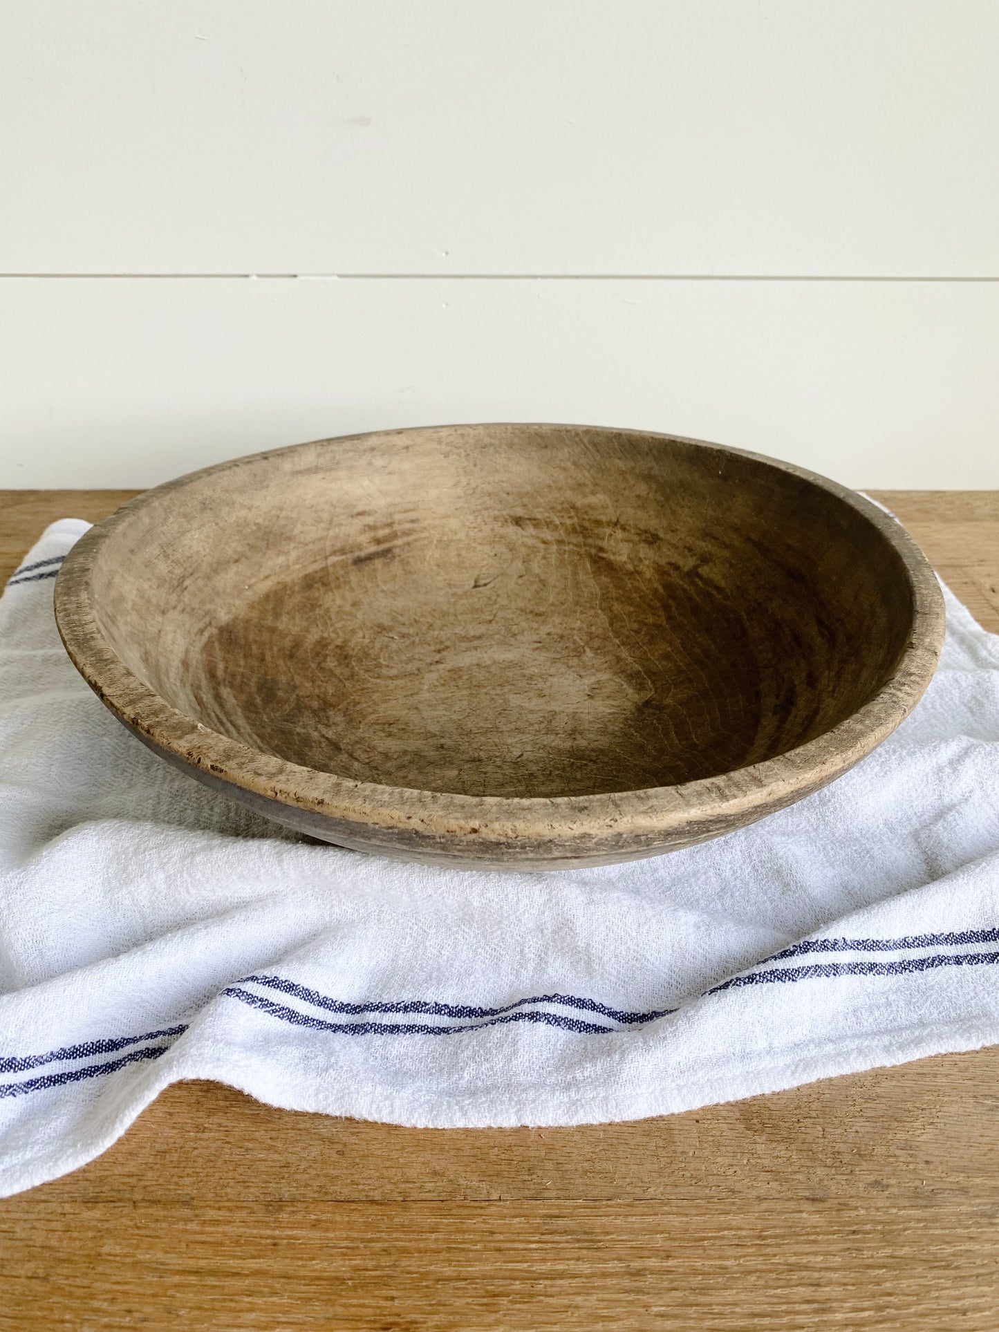
[[[56,582],[107,706],[326,842],[565,868],[738,829],[926,689],[906,531],[758,454],[635,430],[321,440],[139,496]]]

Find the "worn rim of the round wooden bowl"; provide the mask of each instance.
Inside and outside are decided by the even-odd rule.
[[[850,717],[822,735],[783,754],[715,777],[678,786],[643,787],[590,795],[500,797],[426,791],[420,787],[358,782],[266,754],[213,731],[174,709],[136,677],[104,637],[92,603],[92,573],[105,541],[139,509],[160,502],[173,490],[204,477],[300,449],[441,430],[497,429],[559,430],[595,437],[635,436],[663,444],[710,448],[762,462],[836,497],[856,510],[898,553],[912,598],[907,643],[884,685]],[[915,707],[943,645],[944,602],[936,574],[898,519],[880,505],[829,477],[767,454],[687,436],[618,426],[546,422],[474,422],[370,430],[266,449],[185,473],[129,500],[80,537],[67,555],[55,585],[55,614],[73,665],[107,707],[155,749],[181,765],[200,769],[209,779],[229,783],[265,801],[308,811],[321,819],[364,825],[373,831],[426,834],[436,838],[489,840],[529,838],[551,842],[573,836],[661,838],[691,825],[719,819],[749,822],[754,811],[769,813],[826,785],[871,753]],[[213,785],[216,785],[213,782]]]

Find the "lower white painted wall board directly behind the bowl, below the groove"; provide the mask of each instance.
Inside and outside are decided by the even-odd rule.
[[[147,486],[380,426],[646,426],[999,486],[999,284],[21,280],[0,486]]]

